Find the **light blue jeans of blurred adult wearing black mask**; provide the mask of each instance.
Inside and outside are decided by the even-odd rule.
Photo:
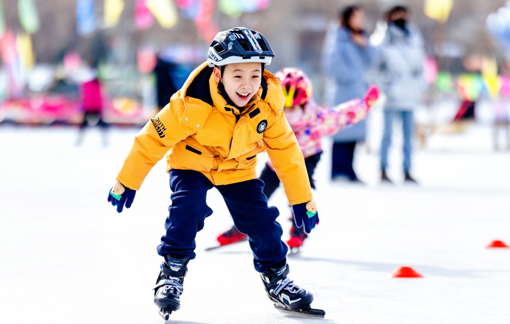
[[[391,145],[391,132],[393,130],[393,118],[402,119],[404,132],[404,172],[411,169],[411,142],[414,133],[413,111],[385,111],[384,112],[384,135],[381,143],[381,169],[388,167],[388,149]]]

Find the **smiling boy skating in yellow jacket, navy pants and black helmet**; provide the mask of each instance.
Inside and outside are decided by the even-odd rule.
[[[311,292],[287,277],[287,246],[278,210],[267,205],[257,179],[257,154],[267,151],[281,180],[296,223],[310,233],[319,223],[310,181],[296,136],[284,117],[282,88],[264,70],[274,57],[266,38],[238,27],[216,35],[208,59],[191,73],[170,103],[135,137],[108,200],[120,213],[166,156],[172,203],[158,246],[164,258],[154,302],[164,320],[181,307],[195,236],[213,211],[207,192],[215,187],[240,232],[248,235],[253,264],[279,310],[323,317],[310,309]]]

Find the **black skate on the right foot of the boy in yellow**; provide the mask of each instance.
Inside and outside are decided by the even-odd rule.
[[[268,272],[260,274],[269,299],[275,303],[274,307],[284,313],[324,317],[323,310],[310,308],[314,296],[311,292],[295,285],[293,280],[287,277],[289,271],[289,266],[285,265],[279,269],[271,268]]]

